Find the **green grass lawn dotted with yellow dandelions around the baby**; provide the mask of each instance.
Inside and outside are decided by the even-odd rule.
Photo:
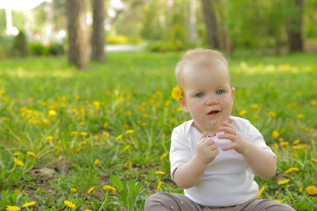
[[[173,128],[190,118],[170,97],[180,56],[108,53],[107,63],[88,70],[66,58],[1,60],[0,210],[27,210],[30,201],[36,204],[29,210],[71,210],[64,200],[77,210],[139,210],[160,181],[159,191],[182,193],[168,161]],[[276,177],[256,177],[265,186],[262,197],[295,210],[317,206],[316,194],[306,191],[316,186],[316,58],[228,58],[236,88],[232,115],[250,120],[278,155]],[[51,172],[43,174],[45,167]],[[285,174],[291,167],[299,171]],[[281,179],[290,181],[278,185]]]

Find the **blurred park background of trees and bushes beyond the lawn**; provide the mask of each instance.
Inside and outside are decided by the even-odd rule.
[[[85,68],[104,50],[314,51],[316,9],[316,0],[0,0],[0,59],[68,55]]]

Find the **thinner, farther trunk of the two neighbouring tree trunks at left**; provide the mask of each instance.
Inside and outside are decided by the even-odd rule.
[[[92,10],[92,60],[104,62],[104,0],[92,0]]]

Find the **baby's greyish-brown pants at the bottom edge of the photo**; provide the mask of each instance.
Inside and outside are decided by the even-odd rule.
[[[155,193],[147,198],[144,205],[145,211],[209,211],[209,210],[222,210],[222,211],[277,211],[277,210],[292,210],[294,209],[284,203],[279,203],[276,200],[252,198],[247,203],[229,207],[209,207],[199,205],[189,200],[187,196],[180,193]]]

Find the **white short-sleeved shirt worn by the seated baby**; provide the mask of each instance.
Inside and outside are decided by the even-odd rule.
[[[263,136],[248,120],[230,116],[232,126],[242,134],[244,139],[254,143],[264,151],[276,155],[266,146]],[[182,164],[187,163],[196,153],[196,145],[201,137],[200,132],[192,127],[193,120],[187,121],[172,132],[170,145],[170,174]],[[222,151],[228,146],[229,139],[218,139],[219,132],[213,137],[219,150],[213,162],[209,163],[199,183],[184,190],[185,196],[200,205],[232,206],[239,205],[254,198],[259,193],[259,186],[254,181],[254,173],[235,150]]]

